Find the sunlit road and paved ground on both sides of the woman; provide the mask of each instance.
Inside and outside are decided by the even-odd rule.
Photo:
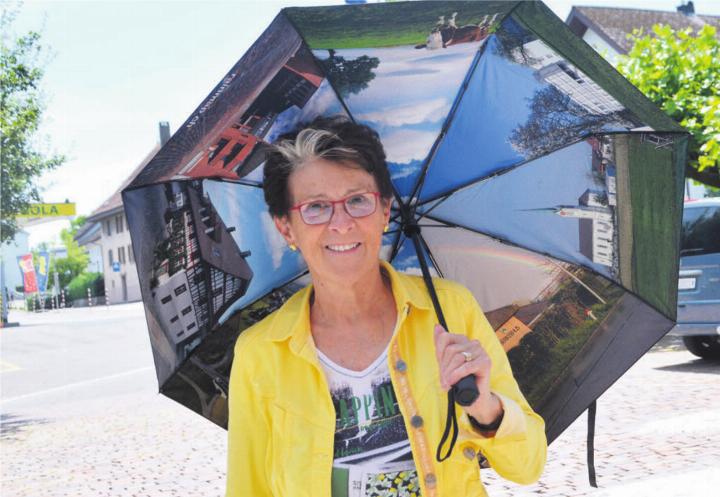
[[[0,330],[3,497],[222,496],[226,433],[157,393],[140,304],[11,313]],[[483,471],[492,497],[706,497],[720,488],[720,363],[673,339],[598,401],[587,483],[586,419],[548,450],[537,484]]]

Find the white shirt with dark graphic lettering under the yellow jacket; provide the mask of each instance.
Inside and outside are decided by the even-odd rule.
[[[364,371],[345,369],[319,351],[318,356],[336,416],[332,496],[419,496],[387,351]]]

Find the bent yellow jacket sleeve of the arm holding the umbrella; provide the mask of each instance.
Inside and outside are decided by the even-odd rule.
[[[463,294],[467,334],[479,340],[490,356],[490,389],[502,402],[505,414],[495,436],[486,438],[473,429],[469,417],[458,406],[461,433],[475,443],[500,476],[520,484],[534,483],[547,458],[545,421],[525,400],[507,355],[475,297],[464,288]]]

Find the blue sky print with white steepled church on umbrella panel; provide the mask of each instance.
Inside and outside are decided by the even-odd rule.
[[[459,190],[431,216],[617,280],[615,167],[591,138]]]

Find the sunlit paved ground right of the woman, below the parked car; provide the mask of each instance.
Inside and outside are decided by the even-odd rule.
[[[672,349],[665,340],[656,350]],[[540,481],[483,474],[492,497],[706,497],[720,489],[720,363],[650,352],[598,401],[597,489],[586,465],[583,414],[548,449]]]

